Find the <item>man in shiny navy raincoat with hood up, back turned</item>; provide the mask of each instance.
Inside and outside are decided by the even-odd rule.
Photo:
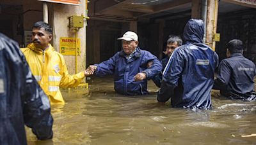
[[[209,108],[218,55],[202,42],[204,22],[191,19],[184,28],[185,44],[175,49],[163,72],[159,102],[172,107]]]

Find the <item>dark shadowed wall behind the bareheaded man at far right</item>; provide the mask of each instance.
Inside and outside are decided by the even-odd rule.
[[[225,44],[232,39],[241,39],[244,43],[244,56],[256,64],[256,10],[236,11],[219,15],[217,32],[220,42],[216,43],[216,52],[220,60],[226,58]]]

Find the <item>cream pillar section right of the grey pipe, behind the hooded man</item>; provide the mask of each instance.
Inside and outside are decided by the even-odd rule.
[[[215,41],[213,41],[214,34],[217,30],[217,20],[218,20],[218,0],[208,0],[207,1],[207,21],[206,21],[206,40],[205,43],[209,45],[212,50],[215,51]]]

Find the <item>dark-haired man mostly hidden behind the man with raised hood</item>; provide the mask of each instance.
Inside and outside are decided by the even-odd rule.
[[[156,77],[152,78],[152,81],[154,81],[154,83],[156,84],[156,86],[158,86],[160,88],[161,86],[161,82],[163,79],[163,71],[164,68],[166,67],[173,51],[182,45],[182,39],[179,36],[174,36],[171,35],[169,36],[168,40],[166,41],[166,50],[165,50],[165,54],[167,55],[167,57],[165,57],[164,59],[161,60],[161,64],[163,66],[162,71],[159,73],[159,75],[157,75]]]

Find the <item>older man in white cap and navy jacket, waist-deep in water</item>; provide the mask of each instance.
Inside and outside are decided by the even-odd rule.
[[[138,36],[127,31],[122,38],[123,50],[109,60],[88,67],[96,76],[114,74],[115,91],[123,95],[145,95],[147,79],[151,79],[162,69],[156,56],[138,47]],[[151,62],[152,66],[147,67]]]

